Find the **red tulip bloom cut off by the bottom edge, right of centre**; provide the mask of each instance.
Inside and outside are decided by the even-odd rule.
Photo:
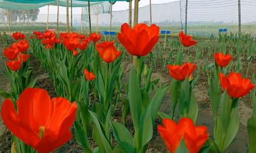
[[[182,118],[176,124],[173,120],[163,119],[163,126],[158,126],[159,135],[164,140],[167,149],[174,153],[179,148],[182,138],[190,153],[198,152],[207,138],[206,126],[195,126],[193,120]]]

